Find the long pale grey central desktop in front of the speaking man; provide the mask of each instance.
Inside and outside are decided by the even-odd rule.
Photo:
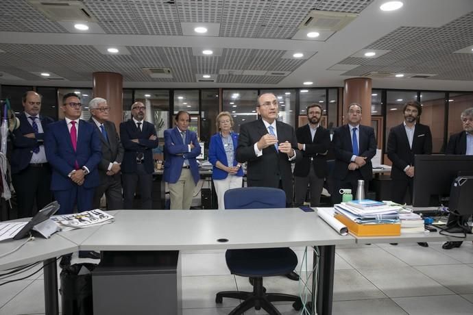
[[[64,232],[64,234],[67,232]],[[315,212],[261,210],[121,210],[79,242],[81,250],[157,251],[354,244]],[[226,238],[228,242],[218,242]]]

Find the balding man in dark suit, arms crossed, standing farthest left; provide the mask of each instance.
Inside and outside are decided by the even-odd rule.
[[[44,146],[45,130],[53,119],[40,115],[41,99],[41,95],[34,91],[23,95],[25,111],[18,116],[20,127],[12,133],[10,165],[19,218],[34,216],[53,199],[51,167]]]

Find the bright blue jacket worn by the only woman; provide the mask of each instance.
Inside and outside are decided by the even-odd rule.
[[[238,147],[238,134],[234,132],[230,133],[233,141],[233,165],[236,166],[238,164],[236,152]],[[220,133],[213,135],[210,138],[210,146],[208,147],[208,162],[212,163],[213,165],[213,172],[212,178],[213,179],[226,179],[228,173],[226,171],[221,170],[215,164],[217,161],[220,161],[221,164],[225,166],[228,165],[227,154],[225,153],[225,148],[223,147],[223,141],[221,140]],[[241,167],[235,176],[243,176],[243,167]]]

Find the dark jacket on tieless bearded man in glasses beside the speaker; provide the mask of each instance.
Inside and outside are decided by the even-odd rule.
[[[306,149],[302,151],[302,159],[295,163],[294,176],[306,177],[311,169],[311,158],[315,175],[324,178],[328,175],[327,153],[330,148],[330,131],[320,126],[315,131],[312,138],[311,127],[307,124],[295,130],[295,136],[299,143],[306,144]]]

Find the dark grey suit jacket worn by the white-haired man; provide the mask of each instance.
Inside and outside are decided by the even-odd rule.
[[[121,145],[119,135],[117,133],[117,128],[115,128],[115,124],[111,121],[104,121],[105,131],[107,133],[107,138],[104,137],[102,134],[101,129],[97,126],[95,121],[90,118],[89,123],[91,123],[95,127],[95,131],[99,133],[100,142],[102,146],[102,159],[99,163],[99,176],[101,183],[105,183],[107,177],[109,177],[106,173],[108,171],[108,166],[110,163],[118,162],[121,163],[123,161],[123,145]],[[113,177],[117,180],[120,180],[120,174],[115,174]]]

